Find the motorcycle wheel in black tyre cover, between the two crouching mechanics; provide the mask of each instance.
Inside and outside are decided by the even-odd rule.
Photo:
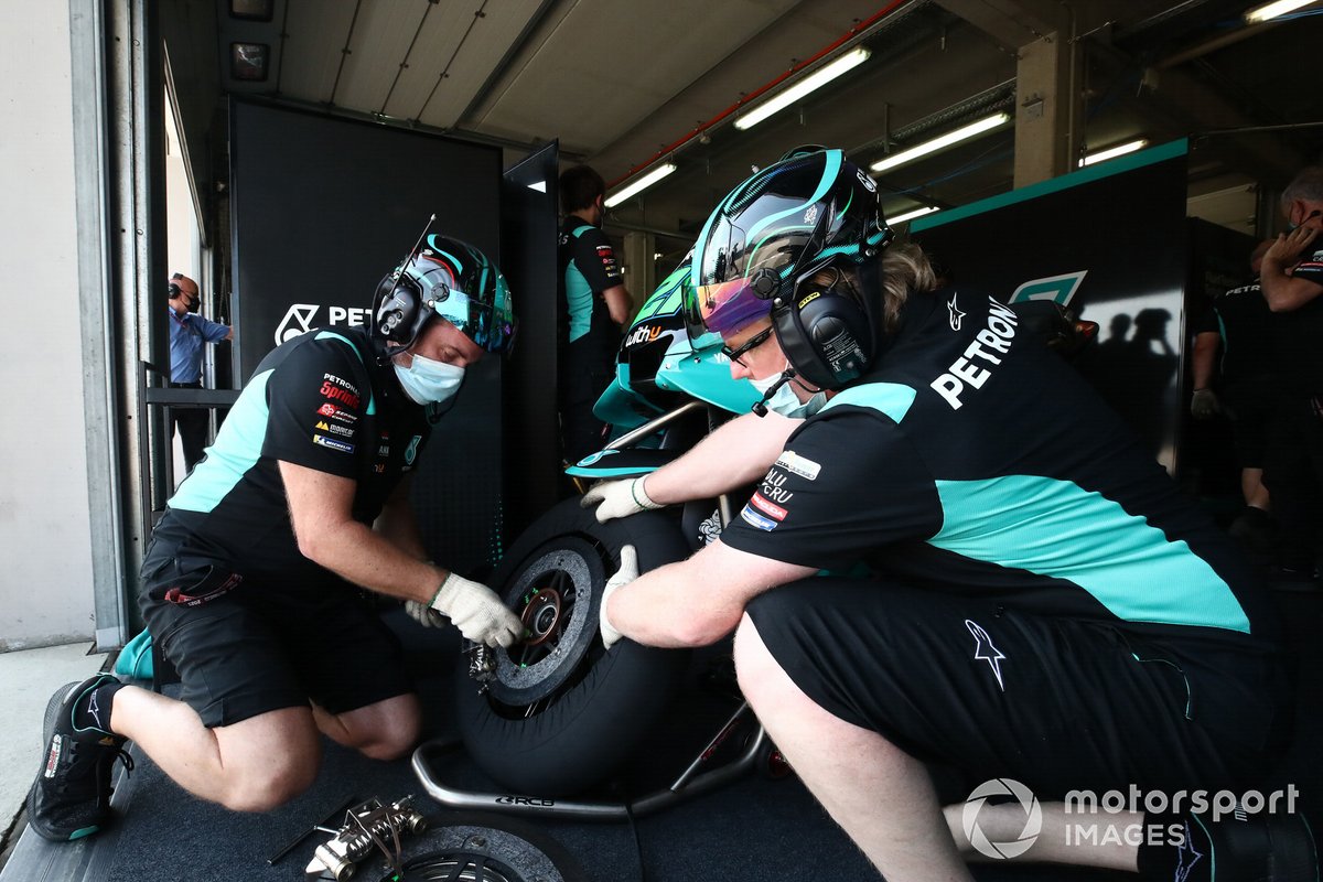
[[[676,522],[659,512],[598,524],[569,499],[532,524],[492,573],[490,584],[516,611],[531,594],[556,588],[557,628],[515,655],[497,649],[486,692],[456,672],[456,723],[468,755],[513,793],[565,796],[599,783],[628,756],[669,703],[688,664],[683,649],[620,640],[603,649],[602,588],[634,545],[646,573],[688,555]],[[545,596],[545,595],[544,595]]]

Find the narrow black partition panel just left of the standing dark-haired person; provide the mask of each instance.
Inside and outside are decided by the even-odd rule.
[[[505,365],[507,524],[516,536],[557,496],[556,235],[558,145],[553,141],[501,180],[501,254],[519,312]]]

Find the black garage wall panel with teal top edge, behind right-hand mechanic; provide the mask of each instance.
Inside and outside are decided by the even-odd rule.
[[[1187,279],[1184,140],[921,217],[957,290],[1053,299],[1097,321],[1076,366],[1176,473]]]

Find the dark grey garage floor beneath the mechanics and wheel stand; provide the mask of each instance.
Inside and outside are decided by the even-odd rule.
[[[1323,795],[1323,763],[1318,759],[1318,744],[1323,743],[1323,702],[1318,689],[1323,681],[1323,647],[1316,639],[1323,625],[1323,594],[1275,591],[1274,596],[1290,623],[1293,641],[1303,653],[1302,681],[1306,684],[1301,693],[1301,733],[1283,764],[1281,783],[1294,783],[1304,793],[1311,815],[1323,817],[1319,799]],[[455,657],[454,645],[425,643],[421,631],[410,629],[405,623],[401,633],[410,639],[410,659],[417,662],[425,702],[430,709],[427,730],[435,735],[450,735],[452,727],[445,718],[445,707],[450,706],[451,698],[450,677],[448,672],[439,672],[438,676],[435,660]],[[439,637],[427,632],[426,640]],[[639,760],[630,771],[631,780],[636,782],[635,795],[650,791],[654,782],[668,782],[677,775],[687,758],[701,748],[733,707],[729,698],[704,689],[699,681],[700,677],[695,676],[692,689],[677,702],[672,723],[654,739],[656,743],[639,751]],[[8,722],[12,721],[0,718],[0,727]],[[28,770],[24,774],[30,775],[38,760],[40,741],[30,733],[25,741],[30,741],[25,744],[30,754],[25,759],[30,762],[20,766]],[[9,742],[8,737],[0,738],[0,743]],[[328,747],[323,772],[308,793],[263,816],[235,815],[196,800],[144,756],[136,759],[132,776],[120,780],[116,787],[114,805],[120,820],[112,828],[90,840],[62,845],[52,845],[30,832],[22,832],[7,863],[0,867],[0,882],[302,879],[314,846],[329,838],[327,833],[308,837],[274,865],[267,860],[351,799],[377,796],[390,801],[411,793],[434,826],[467,820],[464,815],[442,809],[429,800],[407,763],[377,763],[335,746]],[[462,758],[452,783],[499,791]],[[599,795],[601,799],[617,796],[618,792]],[[904,807],[897,807],[897,811],[904,811]],[[749,775],[712,793],[638,819],[634,824],[523,819],[515,824],[532,825],[533,836],[549,837],[553,845],[548,848],[562,848],[582,870],[577,878],[591,882],[873,878],[867,862],[794,778],[767,780]],[[406,840],[406,854],[423,849],[427,841],[426,837],[414,842]],[[980,882],[1119,882],[1132,878],[996,863],[982,865],[975,873]],[[357,878],[374,882],[381,877],[364,869]],[[576,877],[568,874],[566,878]]]

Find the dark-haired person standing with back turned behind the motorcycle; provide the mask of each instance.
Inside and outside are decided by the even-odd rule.
[[[561,454],[577,463],[605,442],[593,405],[615,377],[620,329],[632,309],[615,249],[602,233],[606,184],[587,165],[560,177],[561,235],[557,282]]]

